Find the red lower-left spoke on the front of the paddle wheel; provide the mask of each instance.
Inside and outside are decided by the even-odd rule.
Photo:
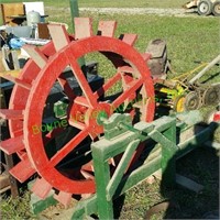
[[[88,128],[80,131],[72,139],[62,150],[59,150],[52,158],[51,165],[56,166],[65,156],[67,156],[81,141],[88,136]]]

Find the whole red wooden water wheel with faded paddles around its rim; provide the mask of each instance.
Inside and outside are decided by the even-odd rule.
[[[25,180],[37,172],[41,178],[36,180],[33,190],[44,198],[54,187],[59,190],[56,198],[63,204],[68,204],[73,194],[95,193],[95,182],[92,176],[89,177],[91,170],[89,163],[86,162],[80,166],[75,164],[73,167],[75,175],[72,177],[64,174],[57,166],[72,155],[88,136],[97,139],[102,133],[102,127],[99,125],[97,118],[100,114],[109,117],[120,106],[123,106],[123,109],[130,112],[133,118],[141,114],[140,120],[148,122],[154,118],[155,106],[153,81],[146,66],[150,55],[141,55],[133,48],[136,40],[135,34],[124,34],[121,40],[114,38],[116,22],[112,21],[101,21],[98,35],[91,33],[90,19],[76,19],[75,26],[75,38],[73,40],[64,28],[50,25],[54,44],[45,46],[42,51],[25,46],[32,59],[23,69],[21,76],[23,85],[16,85],[14,88],[10,105],[11,110],[8,112],[8,114],[14,114],[15,120],[9,116],[6,117],[11,119],[12,139],[10,141],[13,142],[13,136],[15,136],[15,139],[21,140],[21,143],[24,143],[19,151],[18,147],[14,148],[13,153],[20,152],[25,145],[21,163],[11,173],[20,180]],[[94,52],[103,54],[112,62],[117,70],[117,74],[96,91],[90,88],[78,64],[79,58]],[[81,96],[74,95],[64,77],[63,73],[66,67],[70,67],[73,76],[77,79],[82,91]],[[79,132],[53,156],[48,157],[45,151],[45,136],[40,132],[34,133],[33,127],[41,128],[46,99],[57,81],[69,100],[68,125],[78,129]],[[100,97],[105,96],[118,81],[122,82],[122,92],[111,101],[101,100]],[[127,108],[128,103],[132,103],[132,108]],[[19,135],[15,131],[19,131]],[[61,131],[62,128],[53,130],[46,134],[46,138],[54,139]],[[19,168],[23,168],[22,174],[16,174]],[[82,178],[78,174],[85,170],[88,172]]]

